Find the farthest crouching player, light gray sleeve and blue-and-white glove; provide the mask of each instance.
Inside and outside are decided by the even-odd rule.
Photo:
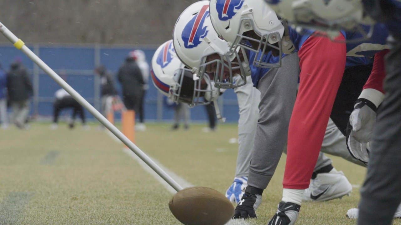
[[[184,70],[184,79],[187,81],[180,81],[178,79],[178,74],[182,74],[180,70]],[[173,96],[174,90],[179,90],[176,88],[181,87],[181,92],[175,94],[175,101],[178,102],[198,102],[198,100],[187,100],[190,99],[194,92],[192,88],[197,86],[197,84],[192,84],[191,79],[199,82],[201,81],[196,76],[194,77],[192,71],[185,68],[184,64],[176,56],[172,40],[162,44],[155,52],[152,59],[152,80],[154,85],[158,88],[160,92],[165,95]],[[240,77],[234,77],[234,83],[242,82]],[[211,88],[211,92],[199,92],[200,97],[205,97],[208,102],[213,102],[217,97],[223,92],[224,89],[218,91],[218,88],[213,86],[213,81],[210,81],[209,76],[205,74],[201,81],[201,87],[204,87],[204,82],[207,83],[207,87]],[[186,90],[188,94],[187,97],[178,97],[183,95],[183,90]],[[251,158],[251,151],[253,147],[253,138],[255,137],[256,124],[259,115],[258,104],[260,102],[260,92],[253,88],[250,77],[247,77],[247,83],[243,86],[234,88],[234,92],[237,94],[238,105],[239,105],[239,121],[238,121],[238,157],[237,166],[235,171],[234,181],[231,186],[226,191],[226,197],[233,203],[238,203],[243,195],[242,189],[247,186],[249,161]],[[198,94],[193,94],[197,96]],[[209,96],[213,97],[210,98]],[[206,103],[206,102],[202,102]],[[192,104],[197,105],[197,104]]]

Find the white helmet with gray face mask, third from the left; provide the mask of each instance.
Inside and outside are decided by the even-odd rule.
[[[211,0],[210,16],[217,34],[229,43],[231,52],[240,46],[261,55],[275,49],[280,56],[275,63],[263,62],[263,57],[255,59],[255,66],[280,67],[282,54],[295,49],[282,21],[263,0]]]

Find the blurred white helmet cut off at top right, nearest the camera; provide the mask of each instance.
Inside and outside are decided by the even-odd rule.
[[[340,30],[357,30],[363,39],[370,38],[360,24],[374,24],[364,14],[361,0],[266,0],[274,10],[292,25],[320,30],[334,39]]]

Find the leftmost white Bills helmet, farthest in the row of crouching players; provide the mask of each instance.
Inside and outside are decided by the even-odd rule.
[[[172,40],[162,44],[154,53],[151,74],[154,86],[174,102],[190,106],[209,104],[220,94],[207,74],[200,79],[185,68],[175,54]]]

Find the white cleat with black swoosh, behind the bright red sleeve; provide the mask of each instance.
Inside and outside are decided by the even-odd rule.
[[[329,201],[350,195],[352,185],[342,171],[332,169],[329,173],[318,173],[304,192],[304,201]]]

